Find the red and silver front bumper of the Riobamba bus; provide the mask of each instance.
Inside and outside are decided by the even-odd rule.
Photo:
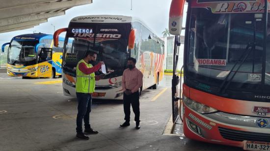
[[[202,142],[246,149],[250,141],[270,145],[270,125],[256,125],[262,117],[250,117],[224,112],[200,114],[184,104],[184,134]],[[270,122],[270,118],[263,118]]]

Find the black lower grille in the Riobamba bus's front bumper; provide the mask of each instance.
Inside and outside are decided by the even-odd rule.
[[[233,130],[223,127],[218,127],[218,129],[221,136],[228,140],[270,142],[270,134]]]

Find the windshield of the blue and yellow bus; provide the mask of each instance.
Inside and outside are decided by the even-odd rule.
[[[25,66],[36,64],[37,53],[34,51],[36,44],[38,44],[38,41],[13,40],[8,50],[8,64],[23,64]]]

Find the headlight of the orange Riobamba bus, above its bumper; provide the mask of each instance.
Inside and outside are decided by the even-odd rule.
[[[202,103],[199,103],[199,102],[196,102],[196,101],[193,101],[185,96],[183,96],[184,98],[184,103],[191,109],[195,110],[196,112],[199,112],[201,114],[206,114],[206,113],[213,113],[213,112],[216,112],[218,110],[216,110],[215,108],[213,107],[210,107],[210,106],[207,106],[207,105],[204,105]]]

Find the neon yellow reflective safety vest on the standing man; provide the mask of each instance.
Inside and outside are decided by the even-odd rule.
[[[79,69],[79,64],[84,63],[87,68],[92,68],[91,64],[86,63],[83,59],[78,62],[76,68],[76,92],[93,93],[95,90],[95,73],[85,75]]]

